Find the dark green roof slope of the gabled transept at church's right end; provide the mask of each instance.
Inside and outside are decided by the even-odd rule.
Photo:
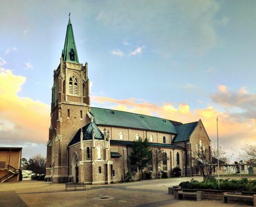
[[[197,126],[198,122],[177,125],[175,128],[176,128],[178,135],[176,137],[174,137],[172,142],[188,141],[190,139],[192,132],[194,131],[195,127]]]

